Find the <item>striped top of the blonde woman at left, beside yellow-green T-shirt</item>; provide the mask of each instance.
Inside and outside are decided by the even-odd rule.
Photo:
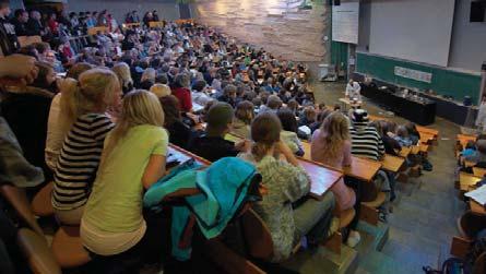
[[[114,127],[106,115],[87,114],[78,118],[64,139],[57,162],[52,191],[55,209],[74,210],[86,203],[105,136]]]

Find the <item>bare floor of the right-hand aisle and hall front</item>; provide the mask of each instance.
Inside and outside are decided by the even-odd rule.
[[[344,87],[343,83],[313,84],[316,100],[334,105],[343,97]],[[366,99],[364,108],[371,115],[405,121]],[[434,171],[425,171],[412,183],[399,183],[399,198],[388,217],[390,238],[381,252],[358,255],[356,273],[423,273],[422,266],[436,266],[449,257],[451,238],[458,235],[455,221],[464,212],[464,204],[457,199],[453,187],[452,150],[460,129],[441,118],[430,128],[440,131],[438,146],[429,153]]]

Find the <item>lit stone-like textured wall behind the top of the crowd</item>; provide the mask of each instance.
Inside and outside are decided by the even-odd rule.
[[[237,39],[294,61],[320,61],[324,5],[299,9],[304,0],[198,0],[199,20]],[[305,29],[305,32],[304,32]]]

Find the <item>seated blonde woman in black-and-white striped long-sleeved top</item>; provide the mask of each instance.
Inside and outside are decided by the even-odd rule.
[[[106,134],[115,127],[108,108],[120,104],[121,87],[109,70],[92,69],[62,92],[64,143],[56,162],[52,206],[62,224],[79,225],[96,177]]]

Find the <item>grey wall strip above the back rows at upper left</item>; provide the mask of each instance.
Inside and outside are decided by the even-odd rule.
[[[175,0],[69,0],[69,11],[102,11],[110,12],[118,23],[125,21],[125,15],[132,10],[139,11],[140,20],[146,11],[156,10],[158,17],[166,20],[179,19],[179,8]]]

